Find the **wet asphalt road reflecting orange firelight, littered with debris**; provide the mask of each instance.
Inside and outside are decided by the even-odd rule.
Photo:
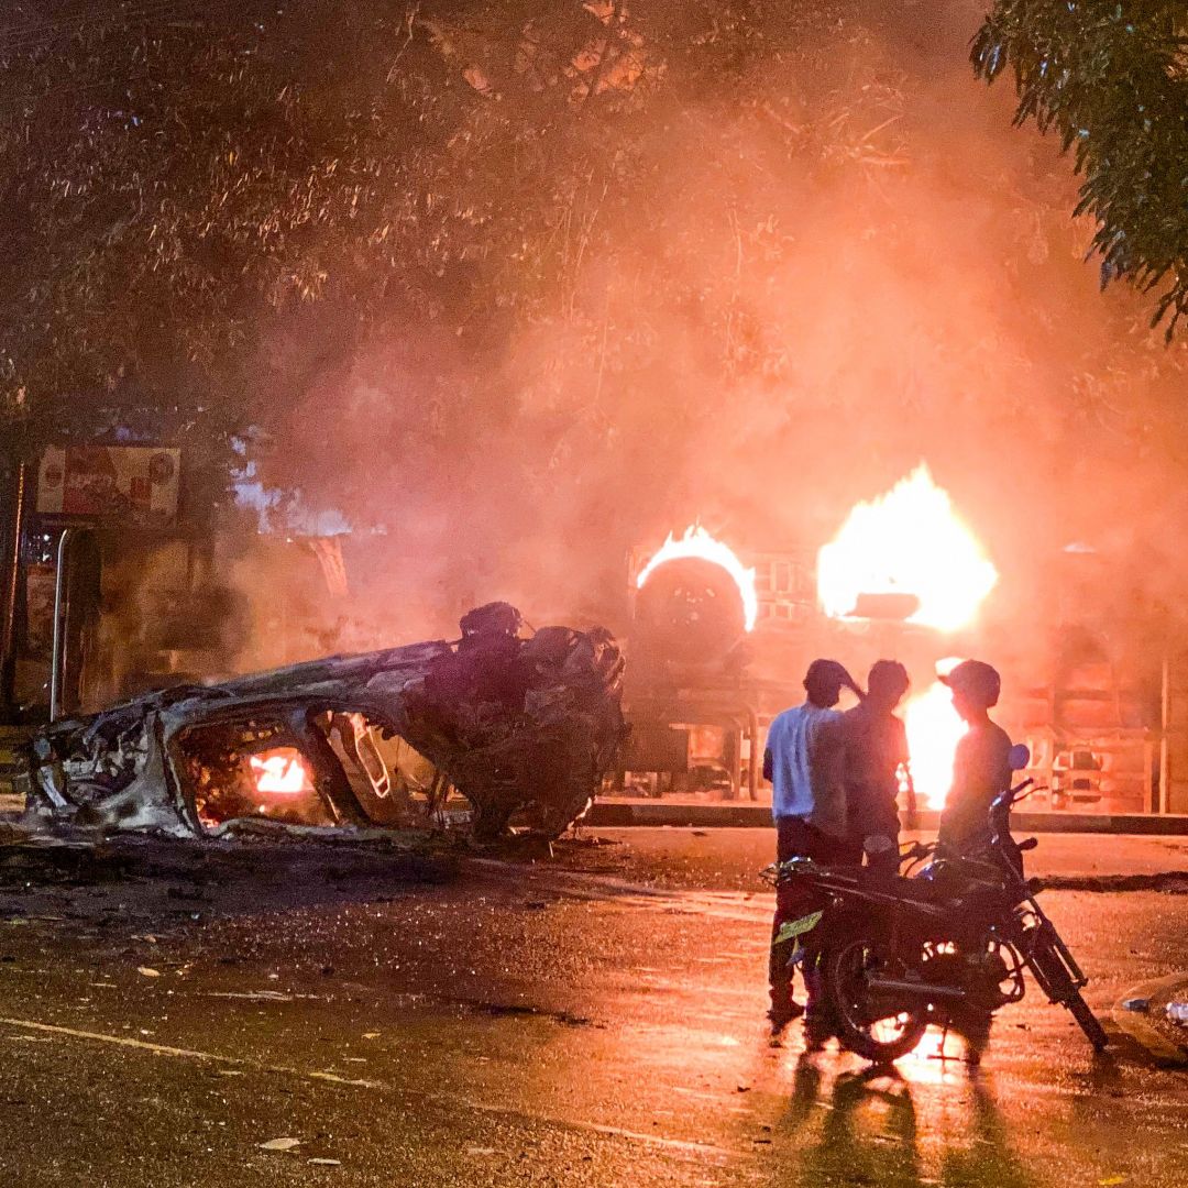
[[[1188,1182],[1188,1072],[1034,992],[977,1074],[770,1047],[756,840],[623,836],[10,878],[0,1184]],[[1045,899],[1093,1006],[1188,971],[1188,896]]]

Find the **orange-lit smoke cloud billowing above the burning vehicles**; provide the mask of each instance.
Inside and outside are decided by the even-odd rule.
[[[675,10],[637,7],[646,50]],[[1089,613],[1062,602],[1074,542],[1112,575],[1086,582],[1094,615],[1170,601],[1184,347],[1098,291],[1069,162],[968,69],[980,6],[752,8],[766,40],[731,72],[696,43],[542,129],[555,192],[468,265],[506,309],[393,321],[276,424],[277,481],[355,526],[374,644],[495,598],[623,627],[633,545],[700,518],[744,554],[815,550],[921,461],[1003,573],[1000,650]],[[527,168],[482,159],[468,185],[498,204]]]

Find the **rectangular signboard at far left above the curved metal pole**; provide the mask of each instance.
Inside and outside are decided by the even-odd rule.
[[[143,446],[50,447],[37,475],[44,516],[132,520],[169,527],[177,519],[182,451]]]

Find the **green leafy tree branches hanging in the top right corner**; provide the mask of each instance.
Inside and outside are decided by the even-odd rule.
[[[1186,27],[1183,0],[997,0],[972,49],[987,82],[1013,75],[1016,124],[1073,151],[1102,286],[1162,290],[1169,339],[1188,314]]]

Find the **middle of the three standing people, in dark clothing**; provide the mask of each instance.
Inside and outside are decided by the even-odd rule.
[[[910,682],[898,661],[877,661],[862,701],[842,716],[847,838],[857,861],[884,874],[899,870],[901,778],[908,823],[915,826],[915,789],[908,767],[908,733],[895,715]]]

